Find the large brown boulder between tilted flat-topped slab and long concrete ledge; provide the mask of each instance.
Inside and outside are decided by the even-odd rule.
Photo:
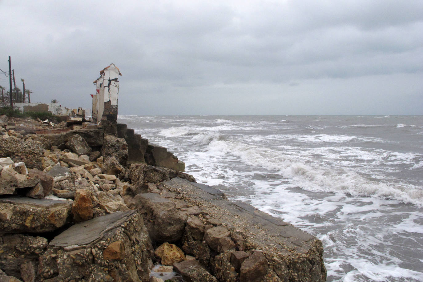
[[[159,194],[137,194],[134,198],[136,208],[140,209],[152,241],[176,242],[184,233],[187,216],[176,209],[173,200]]]

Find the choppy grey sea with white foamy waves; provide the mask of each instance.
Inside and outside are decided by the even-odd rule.
[[[187,173],[319,238],[328,281],[423,281],[423,116],[121,115]]]

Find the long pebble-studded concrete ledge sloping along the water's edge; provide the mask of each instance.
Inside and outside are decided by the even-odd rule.
[[[253,255],[260,257],[261,253],[265,259],[254,263],[267,261],[266,267],[262,269],[263,277],[258,277],[258,280],[250,277],[253,279],[251,281],[326,281],[323,247],[316,237],[258,211],[251,205],[225,200],[212,187],[205,189],[206,185],[190,183],[180,178],[173,178],[163,185],[170,192],[176,193],[179,199],[201,208],[200,219],[206,221],[205,239],[196,240],[191,235],[192,232],[187,230],[183,238],[183,249],[198,257],[219,281],[239,279],[239,274],[233,271],[230,263],[231,254],[236,249],[247,252],[252,257],[250,261],[246,260],[250,264],[251,261],[254,262]],[[187,225],[187,228],[193,229],[193,226]],[[220,231],[214,230],[216,226],[229,230],[230,237],[227,234],[219,235]],[[214,235],[216,232],[218,235]],[[241,266],[240,273],[244,273],[241,281],[248,281],[244,280],[248,277],[248,263]]]

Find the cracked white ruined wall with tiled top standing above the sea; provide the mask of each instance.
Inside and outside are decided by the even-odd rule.
[[[97,93],[93,97],[92,122],[98,125],[105,120],[116,123],[118,119],[118,76],[122,75],[114,65],[103,68],[100,77],[94,80]]]

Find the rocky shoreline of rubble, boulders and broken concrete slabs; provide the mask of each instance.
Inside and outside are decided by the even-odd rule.
[[[124,124],[2,121],[0,282],[326,281],[321,241]]]

